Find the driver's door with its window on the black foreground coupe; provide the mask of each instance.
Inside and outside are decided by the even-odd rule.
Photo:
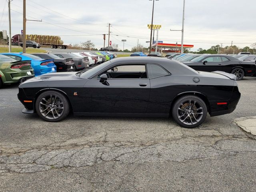
[[[84,85],[84,112],[143,114],[150,95],[150,80],[145,64],[115,65],[97,74]],[[107,80],[100,82],[100,75]]]

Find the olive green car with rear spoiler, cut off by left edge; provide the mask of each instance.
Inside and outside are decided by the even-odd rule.
[[[31,61],[17,61],[0,55],[0,88],[3,84],[22,83],[34,76]]]

